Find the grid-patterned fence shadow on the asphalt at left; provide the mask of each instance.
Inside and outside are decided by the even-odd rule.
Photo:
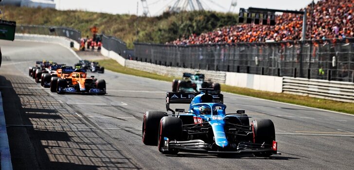
[[[140,169],[31,79],[8,73],[0,86],[14,170]]]

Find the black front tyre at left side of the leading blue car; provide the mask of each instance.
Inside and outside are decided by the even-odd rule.
[[[163,117],[160,120],[159,133],[158,133],[158,149],[160,153],[164,154],[177,154],[178,150],[164,151],[164,137],[170,140],[178,140],[182,137],[182,120],[177,117]]]

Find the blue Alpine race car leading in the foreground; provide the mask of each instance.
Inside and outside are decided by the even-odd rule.
[[[157,145],[164,154],[280,154],[270,119],[256,119],[249,124],[250,117],[244,110],[226,113],[222,94],[209,94],[213,89],[200,90],[200,94],[167,92],[166,110],[172,114],[147,111],[142,122],[142,142]],[[170,108],[173,103],[189,103],[189,110],[174,111]]]

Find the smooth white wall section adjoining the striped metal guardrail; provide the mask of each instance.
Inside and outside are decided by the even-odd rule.
[[[227,72],[225,84],[276,93],[283,92],[283,77],[276,76]]]

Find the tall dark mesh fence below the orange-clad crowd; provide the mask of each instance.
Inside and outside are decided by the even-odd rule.
[[[304,44],[297,41],[188,46],[135,43],[134,60],[182,68],[353,82],[354,38]]]

